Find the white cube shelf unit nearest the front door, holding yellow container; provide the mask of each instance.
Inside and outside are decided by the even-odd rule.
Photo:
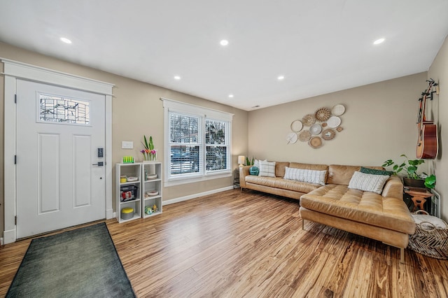
[[[126,222],[141,218],[141,164],[116,164],[116,218],[118,222]],[[126,176],[137,180],[121,182]],[[133,208],[134,214],[129,219],[121,218],[123,208]]]

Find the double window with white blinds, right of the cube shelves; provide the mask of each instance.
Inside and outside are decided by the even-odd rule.
[[[219,178],[231,173],[232,114],[162,99],[165,108],[165,180]]]

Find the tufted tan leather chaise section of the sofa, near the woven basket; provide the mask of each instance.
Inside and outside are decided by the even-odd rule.
[[[402,201],[401,180],[388,178],[381,194],[351,189],[350,178],[358,169],[330,165],[328,180],[339,184],[327,184],[302,195],[302,225],[304,220],[311,220],[384,242],[400,248],[400,262],[404,262],[404,248],[409,234],[415,232],[415,222]],[[339,175],[341,172],[344,176]]]

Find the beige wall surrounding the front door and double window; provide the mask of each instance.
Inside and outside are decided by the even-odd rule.
[[[137,80],[116,76],[104,71],[90,69],[78,64],[64,62],[22,50],[20,48],[0,43],[0,57],[19,62],[42,66],[48,69],[63,71],[77,76],[102,80],[115,84],[113,88],[113,125],[112,125],[112,161],[120,162],[123,155],[134,155],[141,159],[141,140],[143,136],[153,136],[155,148],[158,149],[158,160],[163,161],[163,107],[160,97],[188,102],[198,106],[214,108],[219,111],[235,114],[232,122],[232,165],[237,167],[237,156],[247,152],[247,118],[248,113],[237,108],[216,104],[212,101],[193,97],[188,94],[174,92],[162,87],[141,83]],[[0,64],[3,71],[3,64]],[[0,98],[3,102],[3,78],[0,79]],[[3,104],[0,105],[0,131],[3,136]],[[122,141],[133,141],[134,150],[121,149]],[[0,138],[0,179],[3,181],[3,137]],[[113,170],[114,171],[114,170]],[[114,171],[115,175],[115,171]],[[115,176],[114,176],[115,177]],[[190,183],[174,187],[165,187],[164,200],[190,196],[201,192],[208,192],[216,188],[232,186],[232,178],[208,180],[202,183]],[[108,198],[111,199],[112,198]],[[0,231],[3,233],[3,183],[0,185]],[[113,201],[115,207],[115,202]]]

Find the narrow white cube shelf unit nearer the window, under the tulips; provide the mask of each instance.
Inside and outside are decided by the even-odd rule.
[[[153,206],[157,211],[153,211]],[[147,210],[151,208],[151,211]],[[143,162],[141,166],[141,214],[143,218],[162,213],[162,163]]]

